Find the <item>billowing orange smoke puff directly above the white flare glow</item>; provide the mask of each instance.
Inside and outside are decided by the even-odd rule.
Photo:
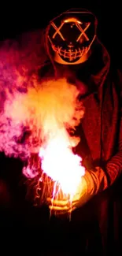
[[[52,137],[58,128],[65,128],[65,125],[75,129],[84,113],[76,86],[67,83],[66,79],[48,80],[41,84],[34,82],[34,87],[28,85],[26,94],[17,91],[12,97],[9,94],[6,115],[13,121],[32,125],[31,128],[41,128],[43,138],[47,135]]]

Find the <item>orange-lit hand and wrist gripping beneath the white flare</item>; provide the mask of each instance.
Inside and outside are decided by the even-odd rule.
[[[100,167],[97,167],[91,170],[91,172],[86,171],[85,175],[81,177],[79,187],[77,187],[72,202],[68,198],[47,198],[47,203],[49,204],[50,210],[57,215],[71,213],[76,208],[83,206],[98,191],[105,190],[107,186],[108,182],[104,171]]]

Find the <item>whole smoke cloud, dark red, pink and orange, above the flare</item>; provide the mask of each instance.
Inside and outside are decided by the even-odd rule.
[[[39,154],[57,131],[74,130],[84,113],[78,89],[65,78],[39,82],[46,61],[40,42],[41,32],[33,32],[0,48],[0,151],[22,160]]]

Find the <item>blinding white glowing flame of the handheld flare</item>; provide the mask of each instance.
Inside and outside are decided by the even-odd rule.
[[[68,138],[62,134],[51,139],[46,148],[40,149],[39,156],[42,158],[43,173],[50,176],[61,191],[72,200],[85,169],[81,166],[82,158],[72,153]],[[56,194],[58,196],[54,186],[53,198]]]

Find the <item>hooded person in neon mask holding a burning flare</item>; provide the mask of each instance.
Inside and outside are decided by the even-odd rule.
[[[109,205],[115,200],[114,186],[122,172],[121,73],[114,69],[108,51],[99,41],[97,26],[94,13],[86,9],[69,9],[51,20],[45,33],[49,62],[39,70],[39,76],[66,77],[81,91],[85,114],[77,131],[82,143],[76,152],[82,155],[86,173],[72,200],[72,219],[76,216],[83,222],[83,215],[89,215],[90,220],[94,208],[104,253],[108,255],[115,246],[115,240],[108,236],[113,232],[113,224],[109,224],[113,210],[109,217]],[[71,212],[67,200],[54,200],[52,206],[51,198],[47,198],[47,203],[57,216]],[[88,219],[93,228],[94,221],[90,224]],[[91,241],[90,251],[98,253],[93,231]]]

